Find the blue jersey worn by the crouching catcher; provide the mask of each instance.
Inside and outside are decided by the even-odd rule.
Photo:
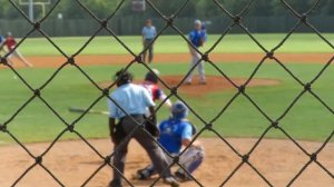
[[[170,118],[163,121],[159,129],[158,140],[170,154],[179,154],[183,139],[191,140],[193,126],[186,120]]]

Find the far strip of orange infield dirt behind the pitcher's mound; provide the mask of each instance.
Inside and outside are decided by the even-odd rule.
[[[209,58],[214,62],[259,62],[265,53],[210,53]],[[306,62],[306,63],[326,63],[333,53],[277,53],[275,55],[283,62]],[[66,62],[61,56],[48,57],[27,57],[35,67],[55,68]],[[81,66],[98,65],[125,65],[134,59],[130,55],[80,55],[76,61]],[[159,53],[155,56],[155,63],[187,62],[190,57],[188,53]],[[14,67],[23,67],[22,63],[16,62]],[[0,66],[3,68],[3,66]]]

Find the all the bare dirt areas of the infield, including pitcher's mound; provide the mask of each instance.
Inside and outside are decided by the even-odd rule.
[[[325,63],[333,53],[284,53],[277,55],[282,61],[286,62],[318,62]],[[220,53],[212,55],[214,61],[219,62],[258,62],[264,55],[262,53]],[[187,62],[189,60],[187,53],[181,55],[157,55],[155,63]],[[61,66],[66,59],[62,57],[28,57],[36,68],[57,68]],[[125,65],[132,58],[126,55],[114,56],[79,56],[76,61],[82,66],[99,65]],[[14,67],[22,67],[20,62],[16,62]],[[3,68],[3,66],[0,66]],[[169,86],[174,86],[183,77],[163,77]],[[232,85],[225,79],[208,76],[209,85],[197,85],[194,81],[191,87],[181,86],[179,91],[190,96],[202,96],[198,90],[218,91],[222,89],[233,89]],[[235,83],[244,83],[245,79],[235,78]],[[101,82],[102,83],[102,82]],[[249,86],[269,86],[278,85],[277,80],[254,79]],[[256,139],[249,138],[228,138],[227,139],[242,155],[247,154]],[[220,139],[203,138],[206,149],[204,164],[194,174],[194,176],[206,187],[219,186],[232,174],[232,171],[240,164],[242,159],[237,157]],[[109,139],[91,139],[89,140],[101,155],[107,156],[111,152],[112,145]],[[321,142],[298,141],[310,154],[316,151],[321,147]],[[41,155],[50,142],[28,144],[28,149],[36,156]],[[334,144],[328,144],[317,156],[317,160],[324,165],[332,174],[334,173]],[[289,140],[264,139],[249,157],[249,163],[254,165],[275,187],[283,187],[302,169],[310,160],[303,151],[298,149]],[[20,148],[18,145],[1,145],[0,141],[0,187],[11,186],[14,180],[29,168],[35,160]],[[42,164],[59,178],[59,180],[69,187],[78,187],[102,164],[102,160],[82,141],[60,141],[43,157]],[[136,141],[131,141],[129,155],[127,157],[126,177],[131,178],[137,169],[149,164],[145,151]],[[105,167],[92,178],[87,185],[89,187],[106,187],[111,178],[111,169]],[[135,186],[149,186],[151,180],[138,181],[130,179]],[[59,186],[40,166],[33,168],[18,184],[23,187],[56,187]],[[164,186],[160,183],[158,186]],[[181,186],[197,186],[194,181],[185,183]],[[243,165],[240,169],[230,178],[226,186],[233,187],[259,187],[267,186],[261,177],[248,166]],[[333,187],[334,179],[328,176],[316,164],[310,167],[296,179],[293,186],[296,187]]]

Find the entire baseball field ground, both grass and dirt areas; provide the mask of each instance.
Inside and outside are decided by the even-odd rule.
[[[209,50],[218,37],[209,36],[203,51]],[[284,37],[285,35],[255,35],[267,50],[275,48]],[[334,42],[334,35],[324,37]],[[71,56],[80,50],[88,39],[55,38],[55,43],[63,53]],[[120,40],[134,53],[140,52],[140,37],[120,37]],[[68,65],[57,71],[66,62],[66,58],[46,39],[27,39],[18,49],[35,67],[22,68],[17,61],[14,67],[20,77],[11,69],[0,66],[0,124],[10,121],[8,124],[10,134],[38,156],[67,128],[63,121],[68,124],[76,121],[76,131],[96,146],[101,155],[110,154],[112,144],[108,139],[107,116],[88,114],[77,121],[81,114],[70,112],[68,109],[70,107],[85,109],[94,105],[94,110],[107,110],[107,99],[97,100],[102,95],[101,91],[80,70],[84,70],[95,83],[105,88],[112,82],[112,75],[128,65],[134,57],[114,38],[98,37],[75,58],[80,69]],[[161,36],[156,41],[155,60],[149,67],[158,69],[160,79],[168,86],[176,86],[188,71],[190,56],[187,51],[187,45],[180,37]],[[213,128],[242,155],[247,154],[256,140],[264,136],[250,155],[249,163],[271,184],[275,184],[274,186],[286,186],[310,160],[310,157],[288,137],[295,139],[308,154],[313,154],[332,135],[330,144],[317,156],[318,163],[332,176],[313,163],[294,185],[333,186],[334,67],[331,63],[324,69],[333,58],[333,48],[316,35],[295,33],[275,51],[275,57],[283,65],[266,59],[259,66],[264,57],[265,52],[248,36],[226,36],[209,55],[214,66],[206,63],[207,85],[202,86],[194,81],[193,85],[181,86],[178,90],[179,97],[191,107],[189,119],[198,129],[205,126],[203,121],[213,122]],[[238,90],[217,69],[238,86],[256,70],[246,87],[247,97],[238,95],[228,105]],[[311,82],[322,70],[324,70],[322,76],[312,85],[315,95],[306,91],[294,102],[304,90],[298,81]],[[140,82],[147,69],[134,63],[129,71],[135,75],[135,81]],[[42,88],[40,95],[42,100],[33,98],[33,92],[27,88],[21,78],[32,89]],[[49,80],[50,82],[45,85]],[[170,92],[163,85],[161,88],[166,94]],[[31,101],[27,102],[30,99]],[[176,100],[177,98],[171,96],[171,101]],[[46,104],[51,106],[52,110]],[[222,110],[227,105],[227,109]],[[22,106],[24,108],[20,110]],[[292,108],[287,110],[289,107]],[[196,117],[197,115],[202,119]],[[168,109],[161,107],[158,110],[158,119],[167,117]],[[266,132],[271,126],[268,118],[279,119],[279,127],[284,131],[271,128]],[[205,186],[219,186],[242,159],[212,131],[205,130],[199,139],[204,142],[206,158],[195,173],[195,177]],[[51,147],[45,157],[45,165],[66,186],[80,186],[102,164],[78,135],[69,131],[63,132]],[[129,178],[138,168],[148,164],[147,156],[136,142],[130,147],[126,169],[126,176]],[[0,184],[10,186],[35,160],[9,134],[0,132],[0,150],[2,163],[0,170],[8,170],[0,175]],[[57,183],[40,167],[33,168],[19,184],[22,186],[36,184],[41,176],[47,178],[40,181],[42,186],[57,186]],[[110,177],[111,170],[105,167],[88,186],[106,186]],[[131,181],[138,186],[146,186],[153,180]],[[228,185],[243,186],[245,183],[248,186],[266,186],[247,164],[232,176]],[[185,185],[197,186],[195,183]]]

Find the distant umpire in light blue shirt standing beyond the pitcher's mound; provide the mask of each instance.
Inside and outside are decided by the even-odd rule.
[[[150,45],[148,47],[148,62],[151,63],[153,58],[154,58],[154,42],[153,41],[154,41],[155,37],[157,36],[157,30],[156,30],[156,27],[153,26],[150,19],[146,20],[145,26],[141,31],[141,35],[143,35],[144,48],[146,48],[148,45]],[[144,51],[144,53],[143,53],[144,62],[146,61],[146,53],[147,53],[147,50]]]

